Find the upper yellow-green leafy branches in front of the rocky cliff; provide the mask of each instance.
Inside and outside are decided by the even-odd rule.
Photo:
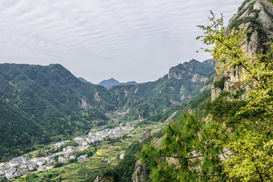
[[[247,57],[242,46],[246,44],[249,30],[236,28],[225,32],[223,18],[215,19],[211,12],[212,21],[210,26],[198,25],[205,32],[205,35],[198,36],[205,44],[213,44],[212,49],[205,49],[217,61],[217,72],[229,71],[234,67],[242,67],[243,74],[241,81],[252,88],[247,94],[247,105],[238,114],[263,114],[273,113],[273,62],[271,44],[270,52],[258,54],[255,57]],[[273,43],[273,39],[271,38]],[[267,43],[268,44],[268,43]],[[270,61],[271,60],[271,61]]]

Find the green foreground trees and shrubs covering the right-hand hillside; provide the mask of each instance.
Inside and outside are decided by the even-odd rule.
[[[248,7],[249,13],[254,12],[254,3]],[[265,52],[248,57],[242,46],[248,43],[250,30],[232,26],[226,31],[222,17],[216,19],[212,12],[209,20],[212,25],[199,26],[205,35],[197,39],[214,45],[205,51],[216,60],[216,75],[243,68],[240,81],[251,89],[226,91],[228,78],[222,76],[214,82],[214,87],[221,90],[216,99],[211,101],[211,93],[204,92],[166,110],[169,115],[176,111],[176,117],[160,132],[138,143],[142,147],[136,147],[134,155],[126,153],[148,166],[142,168],[149,174],[148,181],[272,181],[273,38],[268,38]],[[161,118],[163,122],[168,117],[160,113],[151,120]],[[135,161],[119,165],[130,169]],[[119,165],[102,174],[112,176],[113,181],[129,181],[133,171],[128,170],[128,178],[121,180]]]

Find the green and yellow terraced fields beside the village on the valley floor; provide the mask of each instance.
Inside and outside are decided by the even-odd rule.
[[[130,123],[133,124],[133,123]],[[53,168],[48,171],[34,172],[23,176],[26,182],[34,181],[83,181],[85,178],[91,175],[95,175],[101,169],[108,166],[117,165],[119,155],[124,153],[126,148],[133,142],[138,141],[141,134],[146,129],[152,129],[153,132],[157,132],[165,123],[150,123],[142,125],[134,130],[125,133],[127,138],[119,141],[105,141],[96,145],[97,152],[84,161],[79,161],[73,164],[62,166],[59,168]],[[95,147],[90,145],[90,150],[95,150]],[[107,161],[103,163],[102,160]],[[13,180],[16,181],[16,180]]]

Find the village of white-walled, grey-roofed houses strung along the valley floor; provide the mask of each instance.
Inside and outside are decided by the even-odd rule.
[[[104,126],[99,126],[103,129]],[[35,157],[29,159],[25,155],[18,158],[13,158],[11,161],[6,163],[0,163],[0,180],[6,177],[8,180],[14,179],[18,176],[24,175],[29,172],[44,171],[54,168],[54,163],[67,164],[69,159],[75,159],[75,161],[82,161],[88,158],[87,154],[79,157],[72,155],[73,151],[83,151],[87,149],[89,145],[95,142],[102,142],[108,138],[113,140],[119,139],[121,133],[129,132],[133,130],[133,126],[129,124],[125,126],[116,126],[113,129],[104,129],[98,132],[89,132],[88,135],[78,136],[74,140],[79,144],[78,147],[66,146],[63,151],[51,154],[49,156]],[[58,142],[52,145],[52,148],[60,148],[68,141]],[[102,160],[102,162],[111,162]]]

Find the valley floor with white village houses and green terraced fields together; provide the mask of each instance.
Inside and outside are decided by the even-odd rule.
[[[131,121],[129,123],[133,124],[134,122]],[[129,126],[129,123],[126,126]],[[68,150],[65,150],[64,148],[64,150],[62,150],[61,152],[51,153],[52,151],[59,149],[58,147],[62,149],[62,147],[68,141],[58,142],[56,144],[45,146],[42,149],[21,156],[21,158],[29,157],[28,158],[29,160],[27,160],[26,162],[22,162],[20,164],[19,163],[13,164],[12,163],[12,161],[14,161],[13,159],[12,161],[7,162],[5,165],[2,165],[0,169],[2,169],[1,171],[4,171],[5,169],[9,171],[17,166],[15,174],[10,174],[7,177],[11,181],[17,181],[17,179],[14,179],[14,177],[22,178],[25,181],[39,181],[45,179],[57,181],[58,180],[81,181],[89,176],[96,175],[100,170],[104,168],[116,166],[119,160],[123,160],[122,158],[124,156],[124,152],[126,151],[128,146],[132,143],[139,141],[140,136],[144,131],[149,130],[151,131],[151,134],[154,134],[157,131],[159,131],[164,125],[165,123],[159,124],[156,122],[149,122],[148,124],[145,125],[144,124],[139,125],[137,128],[131,127],[132,130],[131,129],[127,130],[126,126],[124,127],[120,126],[121,130],[123,131],[117,132],[113,136],[111,136],[111,134],[109,135],[109,131],[111,131],[111,129],[106,128],[102,130],[96,127],[91,130],[94,132],[98,131],[95,132],[94,136],[92,136],[93,132],[90,132],[86,136],[78,136],[74,138],[74,141],[77,141],[77,143],[79,144],[79,146],[75,147],[75,149],[67,148]],[[117,128],[115,128],[115,130],[116,129]],[[90,141],[90,143],[87,144],[87,146],[85,146],[84,144],[81,143],[80,140],[88,139],[88,136],[90,139],[97,138],[98,140],[95,143],[92,143]],[[106,137],[98,138],[97,136]],[[92,154],[89,154],[90,152]],[[44,154],[44,156],[37,157],[40,156],[41,153]],[[86,153],[88,154],[88,157],[87,155],[85,157],[84,155],[79,154],[81,156],[78,157],[77,161],[71,161],[71,159],[73,159],[72,157],[74,156],[73,154],[76,153],[81,154]],[[56,158],[56,156],[59,157]],[[84,156],[84,158],[82,156]],[[43,162],[44,164],[39,163],[39,161],[42,160],[44,161]],[[54,168],[50,167],[52,164],[55,164],[56,167]],[[63,166],[58,167],[58,165],[60,164]],[[34,171],[30,172],[30,170],[33,170],[33,166],[35,166]],[[25,173],[25,171],[29,172]],[[19,175],[21,173],[23,175]]]

